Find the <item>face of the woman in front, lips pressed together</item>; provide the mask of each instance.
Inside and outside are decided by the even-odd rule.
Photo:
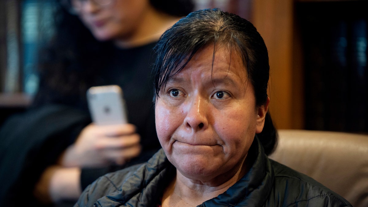
[[[240,170],[266,113],[255,105],[235,49],[219,45],[213,70],[212,60],[212,45],[199,50],[156,102],[156,129],[167,158],[185,177],[201,181]]]

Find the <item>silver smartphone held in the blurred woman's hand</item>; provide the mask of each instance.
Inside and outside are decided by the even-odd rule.
[[[94,86],[87,91],[92,122],[97,125],[128,123],[123,91],[118,85]]]

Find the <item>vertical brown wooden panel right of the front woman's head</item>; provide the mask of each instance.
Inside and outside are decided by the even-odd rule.
[[[304,95],[294,95],[302,90],[302,78],[300,71],[294,71],[299,60],[294,60],[297,57],[293,45],[293,0],[255,0],[252,7],[252,22],[269,51],[269,96],[273,120],[279,129],[301,129],[304,123]]]

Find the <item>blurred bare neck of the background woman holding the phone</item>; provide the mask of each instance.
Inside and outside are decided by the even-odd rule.
[[[179,19],[179,17],[159,12],[151,6],[134,32],[128,38],[116,39],[114,43],[119,48],[134,48],[156,42],[163,32]]]

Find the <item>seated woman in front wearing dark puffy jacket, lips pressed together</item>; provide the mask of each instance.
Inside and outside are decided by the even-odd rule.
[[[75,206],[351,206],[268,159],[268,53],[247,20],[200,10],[157,46],[156,130],[146,164],[107,174]]]

